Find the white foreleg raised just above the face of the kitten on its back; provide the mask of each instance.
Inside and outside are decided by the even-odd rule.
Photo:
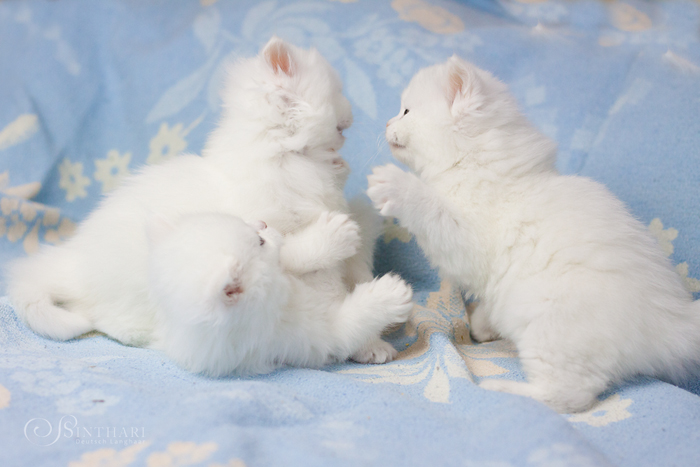
[[[316,222],[285,236],[280,263],[292,274],[306,274],[337,266],[355,255],[359,227],[347,214],[322,212]]]

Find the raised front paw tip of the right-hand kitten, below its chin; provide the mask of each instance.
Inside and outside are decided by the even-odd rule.
[[[411,174],[393,164],[375,167],[367,177],[367,196],[382,216],[399,217]]]

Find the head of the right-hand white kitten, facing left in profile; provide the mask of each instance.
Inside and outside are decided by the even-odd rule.
[[[504,160],[504,152],[524,146],[540,152],[535,166],[551,168],[554,161],[553,144],[528,124],[506,85],[457,56],[413,77],[386,139],[394,156],[419,173],[462,163],[508,171],[523,160]],[[520,157],[532,157],[525,153]]]

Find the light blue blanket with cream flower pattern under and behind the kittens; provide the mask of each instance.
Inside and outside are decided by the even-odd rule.
[[[68,237],[143,164],[201,150],[227,60],[272,34],[317,47],[355,124],[361,194],[391,161],[384,122],[453,53],[508,83],[700,292],[700,4],[692,1],[0,2],[0,262]],[[511,344],[473,344],[460,291],[391,221],[376,271],[416,290],[387,365],[208,379],[101,335],[36,336],[0,299],[0,465],[700,465],[700,382],[641,378],[587,413],[479,389],[522,379]]]

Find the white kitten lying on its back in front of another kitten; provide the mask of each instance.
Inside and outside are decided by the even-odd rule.
[[[280,266],[281,235],[225,214],[149,226],[156,339],[183,368],[210,376],[345,360],[405,322],[411,289],[394,275],[348,294],[341,268],[296,276]]]

